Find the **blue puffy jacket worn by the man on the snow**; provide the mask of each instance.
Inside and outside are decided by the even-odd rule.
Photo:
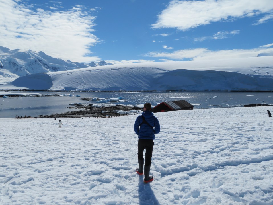
[[[142,116],[144,116],[147,123],[143,122]],[[140,126],[140,128],[139,128]],[[139,139],[155,139],[155,134],[160,132],[160,125],[158,119],[153,115],[151,111],[144,111],[136,118],[134,124],[134,131],[138,135]]]

